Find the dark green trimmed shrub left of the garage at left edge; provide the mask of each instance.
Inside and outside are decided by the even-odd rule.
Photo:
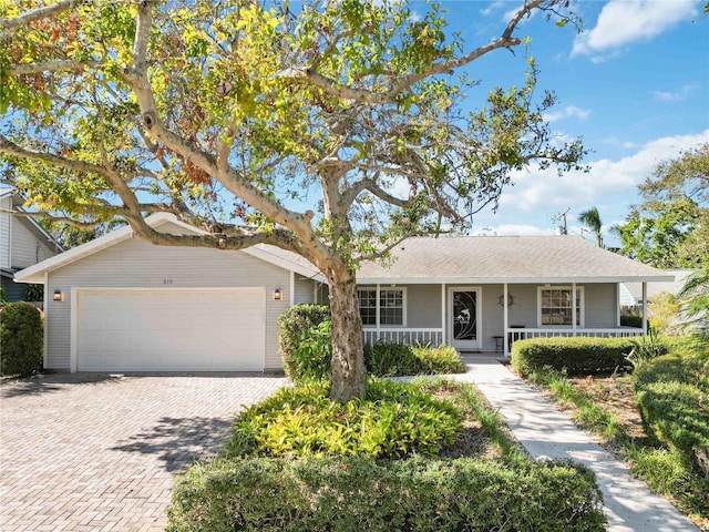
[[[0,311],[0,372],[27,377],[42,369],[42,313],[27,303]]]

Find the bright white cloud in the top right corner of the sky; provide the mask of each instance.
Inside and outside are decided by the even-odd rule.
[[[576,37],[572,55],[607,52],[647,41],[695,16],[698,3],[697,0],[610,0],[602,9],[596,27]]]

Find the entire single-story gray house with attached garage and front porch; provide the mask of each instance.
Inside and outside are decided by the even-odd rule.
[[[410,238],[392,255],[358,273],[366,341],[508,352],[518,338],[643,335],[620,327],[620,283],[671,280],[576,236]],[[130,227],[16,278],[47,283],[44,367],[64,371],[279,370],[278,316],[327,300],[323,276],[292,253],[154,246]]]

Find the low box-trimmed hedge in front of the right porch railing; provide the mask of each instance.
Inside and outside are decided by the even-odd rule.
[[[532,338],[514,342],[511,361],[524,376],[544,367],[572,376],[610,374],[630,367],[633,347],[629,338]]]

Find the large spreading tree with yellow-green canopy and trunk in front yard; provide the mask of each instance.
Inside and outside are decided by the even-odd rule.
[[[523,44],[543,11],[521,2],[500,37],[467,47],[435,3],[0,0],[6,176],[45,215],[121,217],[154,244],[302,255],[326,276],[332,397],[364,390],[356,273],[413,234],[454,231],[532,162],[575,167],[552,139],[526,60],[520,86],[461,102],[461,68]],[[420,12],[420,10],[425,10]],[[209,233],[155,232],[171,212]]]

